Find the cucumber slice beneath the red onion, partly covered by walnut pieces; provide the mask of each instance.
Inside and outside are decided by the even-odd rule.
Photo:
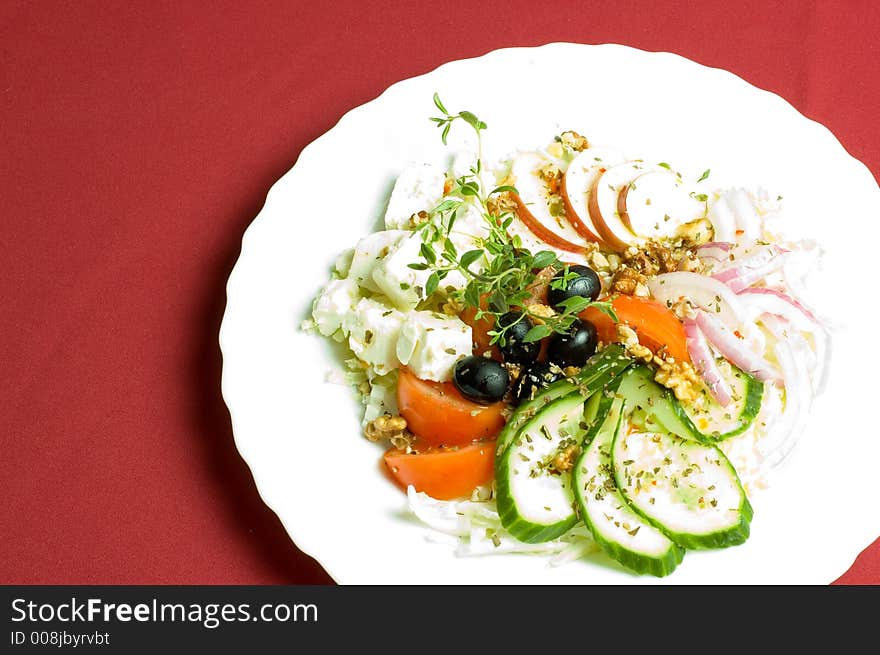
[[[732,391],[727,407],[719,405],[708,389],[698,403],[677,401],[695,428],[706,439],[723,441],[745,432],[754,423],[764,397],[764,384],[735,366],[720,367]]]

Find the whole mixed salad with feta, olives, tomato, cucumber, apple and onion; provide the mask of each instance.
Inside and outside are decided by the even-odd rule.
[[[829,352],[783,198],[574,130],[490,158],[486,123],[434,104],[475,148],[401,172],[305,324],[348,353],[412,512],[461,555],[656,576],[743,543]]]

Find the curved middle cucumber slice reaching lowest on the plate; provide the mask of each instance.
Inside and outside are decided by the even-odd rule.
[[[611,467],[611,445],[625,426],[623,398],[601,398],[596,421],[572,473],[581,517],[602,549],[636,573],[663,577],[684,557],[684,549],[639,516],[617,489]],[[592,399],[591,399],[592,400]]]

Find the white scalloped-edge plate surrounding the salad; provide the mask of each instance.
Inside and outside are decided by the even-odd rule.
[[[381,473],[381,449],[360,436],[360,406],[325,382],[338,360],[298,330],[335,256],[379,226],[404,163],[445,157],[427,120],[434,91],[488,123],[489,150],[576,129],[690,174],[711,168],[716,185],[784,196],[796,227],[827,251],[817,290],[822,313],[836,319],[827,388],[756,499],[749,540],[689,552],[660,582],[821,584],[846,571],[880,534],[877,323],[867,316],[880,189],[826,128],[778,96],[677,55],[618,45],[499,50],[395,84],[306,147],[269,192],[228,282],[223,395],[260,494],[297,546],[342,584],[658,582],[600,556],[550,568],[543,557],[457,558],[429,543]]]

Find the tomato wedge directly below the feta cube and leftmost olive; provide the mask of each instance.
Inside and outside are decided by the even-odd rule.
[[[452,382],[421,380],[406,368],[397,378],[397,407],[410,432],[430,446],[463,446],[504,427],[504,403],[480,405]]]

